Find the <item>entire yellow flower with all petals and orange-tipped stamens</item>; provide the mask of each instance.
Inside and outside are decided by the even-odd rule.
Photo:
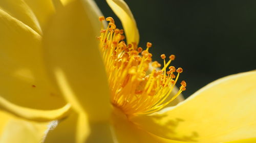
[[[119,19],[92,0],[0,1],[0,143],[256,142],[255,70],[184,99],[181,59],[106,3]]]

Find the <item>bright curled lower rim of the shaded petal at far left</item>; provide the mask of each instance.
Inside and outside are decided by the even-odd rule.
[[[18,117],[38,122],[46,122],[66,117],[70,111],[70,104],[66,104],[65,106],[55,110],[38,110],[17,106],[0,97],[0,108],[11,112]]]

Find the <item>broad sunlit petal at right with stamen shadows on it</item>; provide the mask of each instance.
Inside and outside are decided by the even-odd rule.
[[[224,142],[256,137],[256,71],[216,80],[175,107],[131,120],[164,138]]]

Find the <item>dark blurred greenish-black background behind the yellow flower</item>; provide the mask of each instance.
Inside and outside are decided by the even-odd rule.
[[[152,42],[153,60],[176,55],[182,67],[185,97],[226,75],[256,69],[256,1],[130,0],[136,19],[139,46]],[[105,17],[119,19],[103,0],[97,5]]]

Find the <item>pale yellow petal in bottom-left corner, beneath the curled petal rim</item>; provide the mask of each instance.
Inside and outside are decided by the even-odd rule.
[[[56,126],[54,122],[31,122],[14,117],[0,110],[0,142],[35,143],[45,139],[48,131]]]

